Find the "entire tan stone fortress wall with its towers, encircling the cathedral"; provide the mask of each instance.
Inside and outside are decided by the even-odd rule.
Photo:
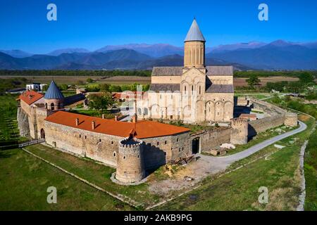
[[[51,111],[37,107],[40,106],[37,104],[27,105],[20,101],[17,117],[21,134],[30,135],[32,139],[45,138],[46,143],[54,148],[116,167],[116,178],[130,183],[143,179],[147,170],[192,155],[194,139],[199,139],[199,152],[206,152],[222,143],[247,143],[248,132],[250,136],[282,124],[297,125],[296,113],[287,113],[275,105],[254,98],[250,98],[247,102],[269,116],[251,122],[235,118],[228,127],[206,130],[199,134],[189,134],[187,131],[170,136],[147,138],[137,140],[132,146],[128,143],[128,139],[121,136],[111,136],[46,121],[45,118]],[[249,129],[247,129],[248,125]]]

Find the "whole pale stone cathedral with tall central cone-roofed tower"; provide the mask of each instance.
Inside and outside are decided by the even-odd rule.
[[[230,122],[233,117],[232,66],[205,65],[205,39],[196,20],[187,33],[184,67],[153,68],[139,117],[186,123]]]

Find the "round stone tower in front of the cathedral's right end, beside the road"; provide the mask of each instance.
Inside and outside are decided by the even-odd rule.
[[[248,121],[243,118],[231,119],[230,142],[235,145],[248,143]]]

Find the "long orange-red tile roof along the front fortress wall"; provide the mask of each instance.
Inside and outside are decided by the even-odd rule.
[[[76,118],[79,119],[79,124],[76,126]],[[46,121],[56,124],[62,124],[68,127],[75,127],[77,129],[84,129],[101,134],[108,134],[113,136],[130,136],[131,131],[135,131],[135,137],[138,139],[147,139],[151,137],[170,136],[173,134],[180,134],[189,129],[184,127],[176,127],[170,124],[163,124],[154,121],[140,120],[133,122],[120,122],[115,120],[106,120],[99,117],[89,117],[87,115],[80,115],[76,113],[67,113],[58,111],[49,117]],[[92,122],[95,122],[95,129],[92,129]]]

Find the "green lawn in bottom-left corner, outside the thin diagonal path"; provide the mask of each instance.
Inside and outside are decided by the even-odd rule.
[[[0,210],[133,210],[20,149],[0,151]],[[57,203],[46,202],[49,186]]]

